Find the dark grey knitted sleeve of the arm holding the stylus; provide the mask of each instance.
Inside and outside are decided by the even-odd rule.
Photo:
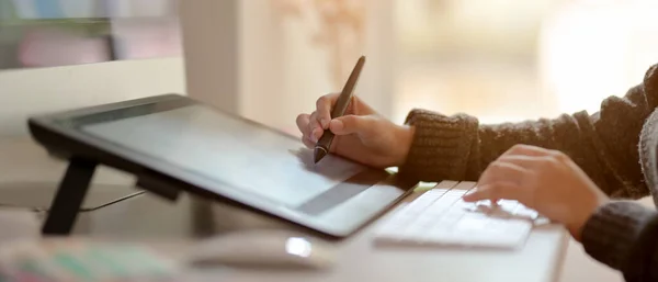
[[[406,124],[413,126],[415,136],[400,174],[419,181],[475,181],[489,162],[525,144],[567,154],[611,196],[647,195],[637,145],[645,120],[658,105],[657,66],[623,98],[605,99],[594,114],[480,125],[466,114],[412,110]]]

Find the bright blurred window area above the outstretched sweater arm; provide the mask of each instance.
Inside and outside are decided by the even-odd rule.
[[[397,1],[396,116],[419,104],[489,123],[594,112],[658,63],[657,3]]]

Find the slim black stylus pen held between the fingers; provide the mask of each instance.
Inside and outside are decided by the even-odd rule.
[[[331,110],[331,119],[336,119],[339,116],[343,116],[350,102],[352,101],[352,93],[354,92],[354,88],[356,87],[356,81],[359,81],[359,76],[361,75],[361,69],[363,69],[363,65],[365,64],[365,56],[361,56],[359,61],[356,61],[356,66],[352,69],[352,74],[348,79],[348,82],[343,87],[342,92],[338,97],[336,101],[336,105],[333,105],[333,110]],[[331,148],[331,142],[333,142],[333,133],[327,128],[322,134],[322,137],[316,144],[314,150],[314,161],[317,163],[320,161],[327,154],[329,154],[329,148]]]

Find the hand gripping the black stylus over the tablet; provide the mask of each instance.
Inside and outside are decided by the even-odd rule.
[[[313,148],[329,128],[336,135],[329,149],[331,153],[377,168],[402,165],[413,138],[412,128],[394,124],[356,97],[345,115],[331,119],[338,97],[320,97],[315,112],[297,116],[304,144]]]

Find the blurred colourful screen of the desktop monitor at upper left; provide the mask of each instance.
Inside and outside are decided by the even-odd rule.
[[[0,0],[0,68],[181,55],[174,0]]]

